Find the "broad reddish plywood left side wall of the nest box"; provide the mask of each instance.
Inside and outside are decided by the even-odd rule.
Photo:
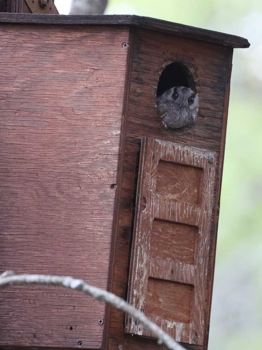
[[[107,289],[129,30],[1,25],[0,266]],[[0,346],[102,347],[104,303],[20,286]]]

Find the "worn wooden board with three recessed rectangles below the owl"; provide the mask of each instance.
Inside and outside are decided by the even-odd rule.
[[[144,138],[128,301],[176,341],[203,345],[216,153]],[[152,336],[126,316],[126,332]]]

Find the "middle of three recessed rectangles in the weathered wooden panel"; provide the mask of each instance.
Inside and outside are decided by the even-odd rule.
[[[151,256],[193,264],[197,233],[197,226],[154,219],[150,241]]]

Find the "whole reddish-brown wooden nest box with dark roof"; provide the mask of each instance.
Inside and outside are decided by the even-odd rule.
[[[0,22],[1,271],[82,278],[207,349],[232,53],[247,40],[137,16]],[[174,85],[200,100],[182,130],[157,115]],[[77,291],[0,296],[0,348],[163,349]]]

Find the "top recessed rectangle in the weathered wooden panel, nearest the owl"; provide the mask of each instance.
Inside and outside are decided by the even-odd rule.
[[[167,201],[197,205],[203,169],[160,160],[155,195]]]

